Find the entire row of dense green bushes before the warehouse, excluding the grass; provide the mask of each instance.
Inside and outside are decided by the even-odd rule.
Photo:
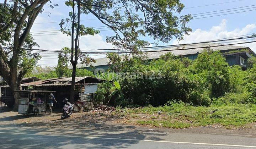
[[[118,56],[113,54],[112,59],[118,60]],[[194,61],[167,53],[158,60],[148,62],[134,57],[126,65],[116,66],[122,68],[120,73],[128,74],[118,78],[122,96],[114,99],[122,101],[122,105],[116,105],[160,106],[168,101],[194,106],[254,103],[256,92],[248,83],[256,81],[256,65],[242,71],[238,65],[229,66],[218,51],[206,49]]]

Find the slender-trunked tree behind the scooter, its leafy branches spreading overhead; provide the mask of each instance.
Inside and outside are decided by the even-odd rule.
[[[75,14],[75,4],[78,4],[77,16]],[[192,19],[191,15],[177,17],[173,12],[180,13],[184,5],[180,0],[68,0],[66,5],[73,7],[70,12],[70,19],[66,22],[72,22],[71,33],[64,27],[65,20],[62,20],[60,26],[64,33],[71,34],[71,64],[73,66],[73,79],[71,92],[75,86],[75,66],[77,64],[77,53],[79,49],[79,37],[83,33],[95,34],[92,28],[85,28],[80,25],[80,13],[94,15],[101,23],[112,29],[114,36],[106,37],[108,43],[112,43],[118,52],[127,54],[122,56],[122,60],[127,61],[132,55],[139,55],[139,47],[149,45],[149,42],[140,40],[140,37],[150,36],[156,43],[168,43],[173,37],[178,40],[183,39],[183,34],[192,31],[186,27],[188,21]],[[142,17],[138,13],[142,13]],[[76,19],[77,18],[77,19]],[[75,23],[77,20],[77,23]],[[142,28],[141,28],[142,27]],[[74,39],[74,29],[76,29],[76,38]],[[75,41],[75,49],[74,47]],[[73,101],[73,93],[70,100]]]

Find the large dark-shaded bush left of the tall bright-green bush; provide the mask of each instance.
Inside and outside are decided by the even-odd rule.
[[[125,78],[124,96],[134,105],[164,105],[168,100],[190,103],[190,94],[198,83],[178,57],[167,54],[164,59],[153,60],[149,65],[134,65],[130,73],[140,72],[139,77]],[[197,94],[199,95],[199,94]],[[198,96],[195,98],[199,98]]]

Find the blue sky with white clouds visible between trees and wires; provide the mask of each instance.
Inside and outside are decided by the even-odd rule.
[[[2,0],[1,0],[2,1]],[[177,43],[191,43],[200,42],[205,40],[214,40],[221,38],[234,37],[244,34],[251,34],[256,32],[256,0],[181,0],[185,5],[180,15],[197,14],[210,11],[218,11],[224,9],[233,9],[236,7],[244,7],[255,5],[251,9],[241,8],[246,12],[234,13],[229,15],[200,18],[191,20],[187,26],[190,26],[193,30],[190,35],[185,35],[182,41],[176,39],[171,40],[169,43],[160,43],[159,45],[172,45]],[[70,47],[71,38],[65,34],[58,32],[52,33],[51,31],[59,30],[59,22],[61,19],[67,18],[70,11],[70,7],[64,5],[63,0],[52,0],[52,4],[58,4],[58,7],[54,9],[49,8],[48,5],[44,7],[45,12],[39,14],[34,25],[31,29],[33,38],[40,46],[37,49],[62,49],[63,47]],[[218,4],[222,3],[222,4]],[[208,6],[205,6],[208,5]],[[255,9],[255,10],[254,10]],[[248,11],[253,10],[253,11]],[[228,10],[227,10],[228,11]],[[235,11],[239,12],[239,11]],[[229,12],[232,13],[232,12]],[[221,15],[219,13],[216,15]],[[204,17],[204,16],[202,16]],[[82,24],[87,27],[97,27],[99,30],[107,30],[101,22],[96,20],[92,15],[82,15]],[[49,23],[51,22],[51,23]],[[40,31],[49,31],[48,33],[42,33]],[[34,32],[34,33],[33,33]],[[50,35],[46,35],[50,34]],[[55,35],[53,35],[55,34]],[[113,35],[113,31],[101,31],[97,35],[87,35],[80,38],[80,49],[108,49],[113,48],[112,44],[106,42],[106,36]],[[153,39],[150,37],[143,38],[144,40],[153,43]],[[248,46],[256,52],[256,44],[243,44],[242,46]],[[44,66],[56,66],[57,65],[57,53],[41,53],[42,59],[38,65]],[[105,57],[104,54],[91,55],[94,58]]]

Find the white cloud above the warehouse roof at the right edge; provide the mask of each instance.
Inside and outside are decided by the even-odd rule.
[[[233,31],[228,31],[226,24],[227,20],[223,19],[218,26],[213,26],[209,31],[203,31],[202,29],[196,29],[193,32],[190,32],[190,35],[185,35],[184,40],[177,41],[175,40],[173,44],[182,44],[182,43],[193,43],[193,42],[202,42],[207,40],[217,40],[222,38],[230,38],[234,36],[240,36],[249,34],[255,30],[256,24],[247,24],[244,28],[236,28]],[[252,50],[256,51],[256,44],[241,44],[241,46],[248,46]]]

